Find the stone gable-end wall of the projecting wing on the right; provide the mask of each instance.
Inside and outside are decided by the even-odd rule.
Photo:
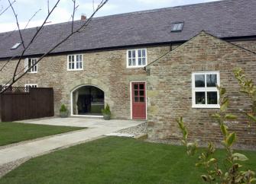
[[[205,32],[174,49],[169,55],[147,67],[147,132],[156,141],[180,140],[176,119],[184,117],[190,138],[201,143],[218,142],[219,125],[209,117],[219,109],[192,108],[193,71],[220,71],[220,81],[231,100],[229,113],[238,120],[227,122],[230,131],[238,133],[237,146],[256,148],[256,125],[248,128],[241,109],[249,109],[250,101],[239,92],[233,68],[241,67],[248,78],[256,81],[256,55],[219,40]]]

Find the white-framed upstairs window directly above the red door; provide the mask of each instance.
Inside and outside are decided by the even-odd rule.
[[[147,49],[128,49],[127,68],[138,68],[147,65]]]

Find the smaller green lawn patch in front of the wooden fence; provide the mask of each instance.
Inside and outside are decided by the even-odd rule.
[[[0,146],[41,138],[48,135],[56,135],[71,132],[83,128],[54,125],[34,125],[19,122],[0,122]]]

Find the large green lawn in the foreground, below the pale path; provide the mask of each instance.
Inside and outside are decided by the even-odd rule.
[[[224,151],[217,151],[223,157]],[[241,151],[256,170],[254,151]],[[28,160],[0,179],[0,183],[202,183],[202,170],[194,167],[179,146],[153,144],[132,138],[102,138]]]

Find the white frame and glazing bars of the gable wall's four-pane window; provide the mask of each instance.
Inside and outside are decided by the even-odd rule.
[[[196,87],[195,75],[205,75],[205,87]],[[206,75],[217,75],[217,85],[220,85],[219,71],[195,71],[192,73],[192,108],[220,108],[219,105],[219,90],[217,87],[206,86]],[[196,104],[196,92],[217,92],[218,104],[207,104],[207,93],[206,93],[206,104]]]

